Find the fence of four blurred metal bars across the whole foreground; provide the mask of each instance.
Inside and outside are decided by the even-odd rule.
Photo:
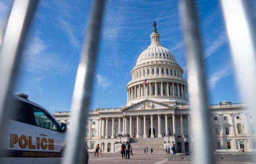
[[[16,79],[20,63],[20,54],[38,0],[15,0],[5,28],[0,32],[0,132],[4,132],[4,118],[9,112],[6,107]],[[221,0],[223,16],[226,23],[231,54],[236,69],[241,98],[248,102],[251,112],[256,114],[256,53],[253,23],[248,19],[248,1]],[[68,135],[68,144],[64,164],[84,163],[83,144],[87,109],[90,105],[91,86],[94,76],[99,33],[103,15],[104,0],[94,0],[87,36],[77,71],[73,93],[72,111],[74,122],[72,133]],[[197,164],[213,163],[210,133],[210,121],[207,110],[207,89],[204,76],[204,60],[200,39],[199,23],[195,0],[180,0],[180,13],[184,29],[184,41],[188,67],[188,85],[192,110],[192,133],[196,143],[195,162]],[[15,19],[14,19],[15,18]],[[17,21],[18,20],[18,21]],[[15,22],[16,21],[16,22]],[[10,42],[12,43],[10,47]],[[200,118],[200,119],[197,119]],[[171,136],[171,135],[170,135]],[[0,136],[1,137],[1,136]],[[121,136],[120,136],[121,137]],[[205,145],[208,145],[207,147]],[[0,145],[1,146],[1,145]]]

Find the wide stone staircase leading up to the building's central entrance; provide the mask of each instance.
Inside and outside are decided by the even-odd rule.
[[[131,138],[129,143],[132,146],[133,153],[144,153],[144,148],[153,148],[153,153],[166,153],[163,150],[164,138]]]

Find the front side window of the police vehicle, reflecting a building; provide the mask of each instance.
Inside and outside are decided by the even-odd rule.
[[[37,106],[34,106],[34,105],[31,105],[31,108],[34,113],[35,124],[37,126],[41,126],[43,128],[48,128],[52,130],[59,130],[59,126],[53,120],[53,118],[50,117],[50,115],[47,112],[45,112],[43,109],[38,108]]]

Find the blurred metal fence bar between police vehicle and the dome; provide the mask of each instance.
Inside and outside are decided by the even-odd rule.
[[[75,88],[71,110],[72,130],[68,134],[63,164],[87,163],[85,157],[85,127],[87,111],[90,106],[91,88],[94,77],[95,60],[97,58],[98,41],[101,30],[105,0],[94,0],[89,22],[89,30],[81,53],[81,61],[76,74]]]

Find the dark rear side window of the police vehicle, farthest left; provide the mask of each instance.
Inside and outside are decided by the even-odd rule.
[[[26,103],[17,99],[12,99],[11,104],[14,105],[15,112],[9,117],[11,120],[29,124],[29,117]]]

